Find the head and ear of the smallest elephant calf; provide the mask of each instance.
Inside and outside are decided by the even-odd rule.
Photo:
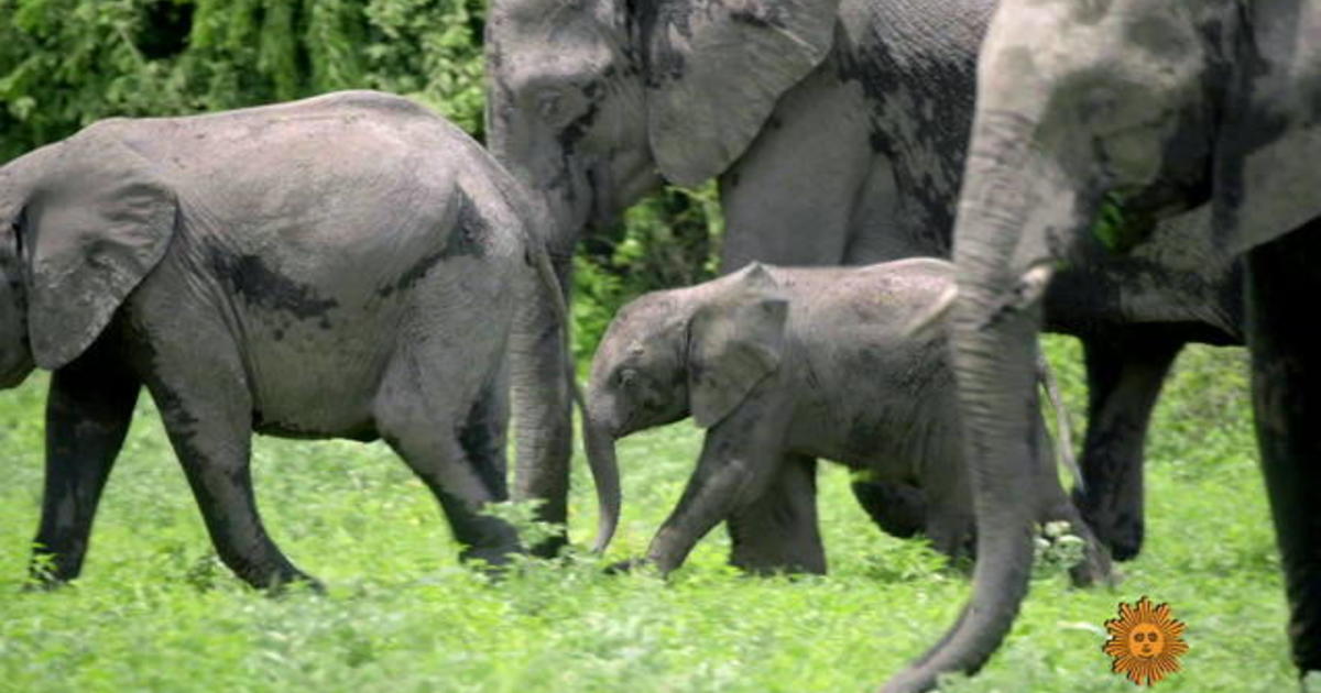
[[[626,305],[592,359],[592,420],[612,438],[690,414],[719,424],[781,364],[789,304],[775,289],[753,264]]]

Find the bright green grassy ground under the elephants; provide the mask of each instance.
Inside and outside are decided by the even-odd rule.
[[[1050,352],[1078,428],[1071,342]],[[1188,623],[1166,692],[1292,686],[1284,599],[1247,417],[1243,354],[1193,348],[1148,446],[1148,544],[1114,589],[1033,582],[1009,644],[948,692],[1131,690],[1102,623],[1151,595]],[[0,396],[0,690],[865,690],[950,623],[967,579],[921,543],[882,536],[822,475],[826,578],[746,578],[713,532],[670,581],[530,562],[491,583],[456,565],[435,503],[382,445],[262,438],[259,502],[328,597],[244,589],[213,557],[155,412],[140,408],[83,578],[24,594],[41,492],[45,379]],[[145,400],[145,397],[144,397]],[[608,558],[639,553],[699,445],[679,424],[621,447],[625,515]],[[585,470],[572,533],[594,527]]]

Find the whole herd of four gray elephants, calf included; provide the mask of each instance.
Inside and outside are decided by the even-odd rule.
[[[486,74],[489,153],[341,92],[107,120],[0,168],[0,385],[53,371],[37,578],[78,576],[143,388],[256,586],[314,581],[262,525],[254,432],[384,440],[465,556],[499,564],[567,541],[523,546],[481,506],[565,521],[579,401],[598,546],[614,440],[692,416],[662,570],[725,521],[736,565],[824,572],[818,458],[867,470],[882,528],[975,550],[970,603],[885,686],[927,690],[1007,635],[1033,523],[1087,540],[1077,582],[1139,553],[1166,371],[1185,343],[1246,343],[1293,659],[1321,669],[1321,331],[1300,319],[1321,290],[1321,0],[493,0]],[[584,396],[576,243],[712,178],[728,276],[626,306]],[[1071,499],[1041,330],[1086,356]]]

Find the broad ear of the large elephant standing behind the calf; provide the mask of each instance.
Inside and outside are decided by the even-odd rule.
[[[642,4],[651,150],[670,182],[691,186],[729,168],[826,58],[839,0]]]

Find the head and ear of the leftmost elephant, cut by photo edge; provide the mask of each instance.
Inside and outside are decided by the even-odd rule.
[[[98,128],[0,168],[0,387],[87,350],[165,255],[176,213],[151,164]]]

